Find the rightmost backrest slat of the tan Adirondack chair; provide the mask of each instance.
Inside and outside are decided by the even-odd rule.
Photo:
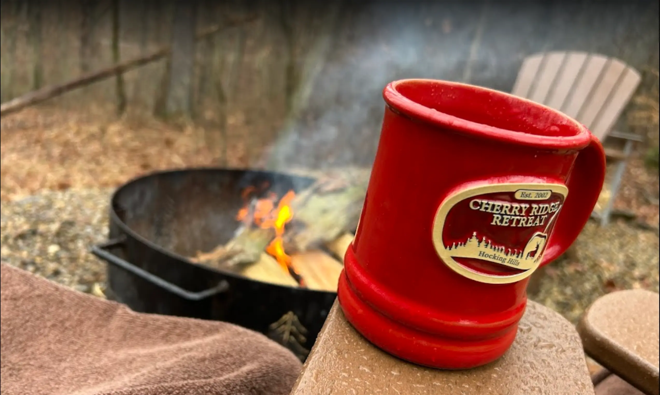
[[[598,118],[594,120],[591,128],[589,128],[591,133],[599,140],[603,140],[612,129],[641,80],[642,76],[636,70],[626,69],[620,83],[612,93],[610,101],[603,107]]]

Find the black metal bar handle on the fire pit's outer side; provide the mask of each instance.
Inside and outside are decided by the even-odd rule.
[[[209,288],[208,290],[203,290],[201,292],[191,292],[189,290],[184,290],[180,286],[176,286],[175,284],[172,284],[172,282],[153,275],[152,273],[145,271],[145,269],[141,269],[140,267],[133,265],[133,263],[125,261],[125,259],[121,259],[120,257],[117,257],[117,255],[114,255],[114,253],[107,251],[110,248],[120,246],[123,244],[123,242],[124,240],[122,238],[108,240],[108,242],[99,244],[98,246],[92,246],[90,252],[96,255],[96,257],[99,257],[100,259],[103,259],[112,265],[121,267],[121,269],[127,270],[154,285],[160,286],[160,288],[164,288],[165,290],[172,292],[172,294],[180,296],[183,299],[193,301],[202,300],[209,298],[209,296],[214,296],[221,294],[222,292],[226,292],[229,289],[229,283],[226,280],[222,280],[213,288]]]

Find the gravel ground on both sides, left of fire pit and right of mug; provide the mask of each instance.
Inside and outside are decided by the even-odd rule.
[[[1,207],[2,261],[82,292],[102,296],[105,265],[88,252],[106,239],[112,190],[82,189],[41,194]],[[560,261],[544,269],[531,298],[576,323],[599,296],[618,289],[658,292],[657,232],[623,221],[587,224]]]

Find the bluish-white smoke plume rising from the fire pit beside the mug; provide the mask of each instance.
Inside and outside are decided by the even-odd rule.
[[[281,131],[269,167],[370,165],[383,117],[381,91],[399,78],[432,78],[430,22],[420,9],[371,4],[340,24],[301,117]]]

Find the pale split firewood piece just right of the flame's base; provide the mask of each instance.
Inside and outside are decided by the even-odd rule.
[[[306,251],[291,255],[291,265],[304,280],[306,288],[337,292],[343,265],[323,251]]]

